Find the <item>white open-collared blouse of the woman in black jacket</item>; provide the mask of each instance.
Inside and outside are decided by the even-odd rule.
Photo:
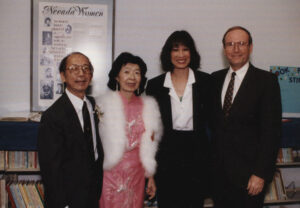
[[[170,89],[169,95],[171,98],[172,123],[173,129],[181,131],[191,131],[194,129],[193,124],[193,88],[195,83],[195,75],[193,70],[189,69],[189,77],[186,83],[182,99],[180,101],[176,94],[172,83],[171,73],[167,72],[164,87]]]

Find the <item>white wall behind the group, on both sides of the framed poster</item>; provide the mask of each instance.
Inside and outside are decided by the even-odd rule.
[[[0,0],[0,116],[30,110],[30,2]],[[254,39],[255,65],[300,66],[299,11],[299,0],[116,0],[115,56],[141,56],[151,78],[161,73],[167,37],[185,29],[195,39],[201,70],[210,73],[226,64],[223,33],[242,25]]]

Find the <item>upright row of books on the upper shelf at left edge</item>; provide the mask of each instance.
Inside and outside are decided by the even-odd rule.
[[[35,151],[0,151],[0,169],[39,170],[38,153]]]

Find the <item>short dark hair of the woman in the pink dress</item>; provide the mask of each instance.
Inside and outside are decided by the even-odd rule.
[[[140,67],[140,70],[141,70],[141,83],[140,83],[139,89],[134,92],[136,95],[140,95],[145,90],[145,84],[146,84],[146,81],[147,81],[147,78],[146,78],[147,65],[143,61],[143,59],[141,59],[139,56],[134,56],[134,55],[132,55],[131,53],[128,53],[128,52],[121,53],[116,58],[116,60],[113,62],[112,68],[111,68],[111,70],[108,74],[109,80],[108,80],[107,86],[111,90],[116,91],[116,86],[119,85],[117,80],[116,80],[116,77],[119,75],[122,67],[125,66],[128,63],[137,64]],[[118,86],[118,87],[120,87],[120,86]]]

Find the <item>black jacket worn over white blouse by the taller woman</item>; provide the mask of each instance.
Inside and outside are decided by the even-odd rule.
[[[199,190],[207,191],[207,176],[210,163],[210,141],[208,138],[208,127],[212,109],[213,81],[210,75],[195,71],[195,83],[193,84],[193,125],[197,135],[196,143],[187,138],[182,148],[187,148],[198,158],[194,162],[192,175],[197,175],[202,186]],[[159,145],[157,162],[159,174],[160,168],[173,165],[170,159],[180,160],[182,155],[169,152],[174,140],[172,140],[172,109],[169,96],[169,88],[163,86],[166,74],[162,74],[148,81],[146,93],[155,97],[159,104],[160,113],[164,125],[164,135]],[[199,170],[199,171],[198,171]],[[208,185],[208,184],[207,184]],[[200,190],[201,191],[201,190]]]

